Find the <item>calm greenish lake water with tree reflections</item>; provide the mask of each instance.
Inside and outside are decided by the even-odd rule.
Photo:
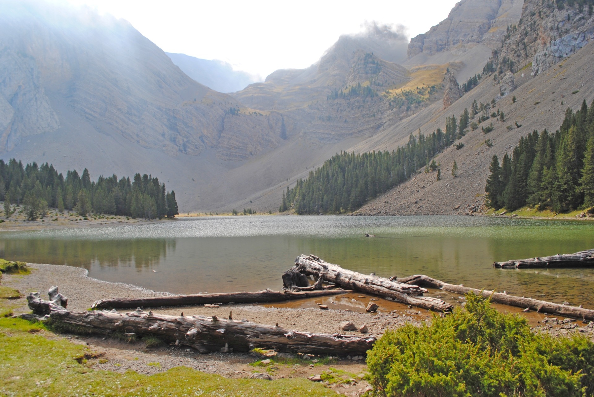
[[[590,308],[593,269],[501,270],[491,263],[593,247],[587,221],[448,216],[205,217],[0,233],[0,258],[79,266],[100,280],[172,293],[279,289],[294,259],[313,253],[363,273],[422,273]]]

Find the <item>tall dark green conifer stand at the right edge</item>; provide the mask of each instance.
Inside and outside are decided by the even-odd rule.
[[[486,204],[514,211],[525,205],[567,212],[594,206],[594,102],[565,112],[560,129],[520,138],[511,157],[491,160]]]

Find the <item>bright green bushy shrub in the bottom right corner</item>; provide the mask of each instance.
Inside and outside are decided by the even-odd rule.
[[[378,395],[592,396],[592,341],[534,334],[489,299],[466,299],[465,309],[431,326],[387,331],[375,343],[367,364]]]

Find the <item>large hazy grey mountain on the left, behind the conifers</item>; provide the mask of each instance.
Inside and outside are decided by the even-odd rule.
[[[0,10],[2,158],[152,173],[196,208],[201,184],[282,141],[281,117],[239,112],[126,21],[43,2]]]

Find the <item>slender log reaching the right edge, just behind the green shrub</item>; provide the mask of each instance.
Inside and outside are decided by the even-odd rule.
[[[509,306],[523,307],[525,309],[536,310],[539,313],[549,313],[551,315],[560,315],[565,317],[576,317],[583,320],[594,320],[594,310],[584,309],[583,307],[569,306],[567,304],[557,304],[544,300],[536,300],[519,296],[508,295],[507,293],[497,293],[494,291],[477,290],[476,288],[463,287],[462,285],[448,284],[440,280],[428,277],[423,274],[417,274],[406,278],[398,278],[405,284],[424,285],[430,288],[440,288],[444,291],[450,291],[456,294],[466,294],[472,292],[476,295],[482,295],[491,298],[492,302],[503,303]]]

